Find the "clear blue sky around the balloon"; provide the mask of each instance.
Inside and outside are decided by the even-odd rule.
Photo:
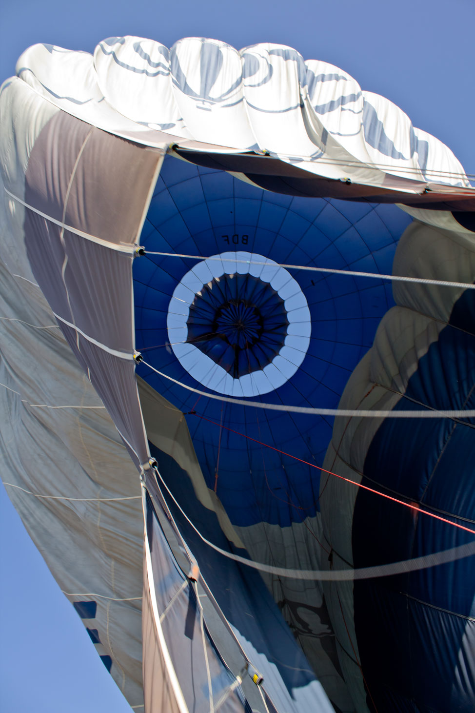
[[[167,46],[185,36],[283,43],[390,98],[475,173],[474,0],[3,0],[0,13],[0,80],[36,42],[86,51],[123,34]],[[4,488],[0,515],[2,713],[130,711]]]

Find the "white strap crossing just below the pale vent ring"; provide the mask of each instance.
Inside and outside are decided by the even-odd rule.
[[[268,409],[269,411],[291,411],[293,414],[314,414],[315,416],[346,416],[347,418],[360,417],[366,419],[474,419],[475,409],[469,411],[454,410],[454,411],[437,411],[436,409],[429,409],[427,406],[427,411],[369,411],[365,409],[318,409],[313,406],[291,406],[288,404],[266,404],[262,401],[247,401],[246,399],[234,399],[231,396],[221,396],[219,394],[210,394],[209,391],[202,391],[202,389],[195,389],[194,386],[188,386],[183,384],[182,381],[173,379],[172,376],[164,374],[162,371],[155,369],[155,366],[148,364],[147,361],[142,360],[140,362],[144,366],[148,366],[149,369],[155,371],[155,374],[162,376],[168,381],[172,381],[173,384],[177,386],[182,386],[182,389],[187,389],[187,391],[192,391],[193,394],[199,394],[200,396],[207,396],[208,399],[214,399],[215,401],[226,401],[228,404],[236,404],[236,406],[253,406],[256,409]],[[461,423],[466,424],[465,421]],[[471,426],[471,424],[466,424]]]

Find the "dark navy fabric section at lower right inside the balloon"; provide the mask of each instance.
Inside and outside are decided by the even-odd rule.
[[[459,328],[474,332],[469,324],[474,309],[475,294],[466,290],[451,324],[419,360],[408,399],[401,399],[396,410],[420,409],[421,403],[475,409],[475,336]],[[387,419],[368,449],[363,482],[475,529],[474,425],[475,419],[468,425],[450,419]],[[459,528],[358,492],[355,567],[419,557],[473,540]],[[361,663],[378,710],[474,710],[474,557],[358,581],[354,607]]]

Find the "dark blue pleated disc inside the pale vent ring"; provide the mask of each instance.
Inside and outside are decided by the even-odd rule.
[[[234,274],[202,287],[187,325],[187,342],[239,379],[263,369],[280,352],[288,319],[283,299],[268,282]]]

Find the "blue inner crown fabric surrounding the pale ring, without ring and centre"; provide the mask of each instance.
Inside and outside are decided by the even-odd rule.
[[[221,171],[167,157],[140,242],[150,251],[209,257],[241,250],[278,263],[391,272],[397,240],[410,220],[395,206],[268,193]],[[136,347],[156,369],[206,391],[180,364],[167,333],[174,289],[196,263],[154,255],[135,260]],[[254,399],[336,408],[348,377],[393,304],[390,287],[375,279],[288,272],[308,303],[310,347],[293,376]],[[206,348],[215,347],[210,341]],[[269,356],[258,358],[255,347],[254,352],[253,356],[249,349],[252,369]],[[217,359],[230,369],[229,356],[231,352],[223,352]],[[237,368],[241,373],[244,362]],[[216,492],[232,523],[245,526],[265,521],[288,526],[318,511],[319,471],[255,441],[321,466],[333,419],[221,404],[185,391],[144,365],[137,373],[187,414],[197,457],[211,488],[219,453]]]

